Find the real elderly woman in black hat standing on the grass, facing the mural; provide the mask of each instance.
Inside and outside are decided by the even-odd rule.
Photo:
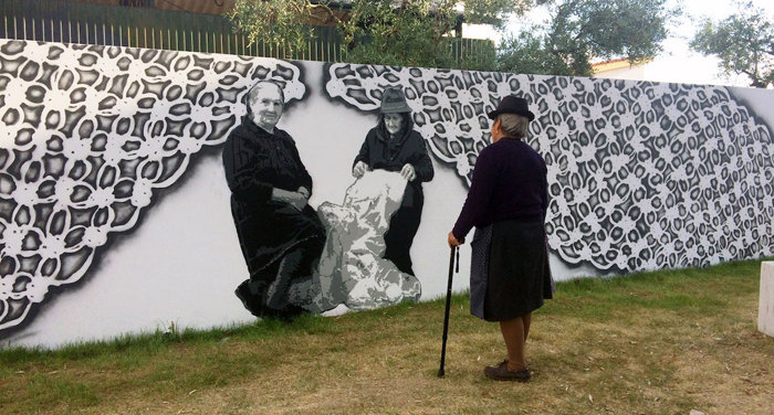
[[[462,212],[449,233],[449,246],[462,244],[475,226],[470,275],[471,313],[499,321],[508,359],[484,369],[496,381],[526,382],[524,348],[532,311],[552,298],[545,247],[548,208],[546,167],[524,142],[535,118],[524,98],[506,96],[493,119],[492,143],[475,162]]]

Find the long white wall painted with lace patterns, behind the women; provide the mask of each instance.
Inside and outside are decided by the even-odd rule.
[[[0,41],[0,339],[251,320],[221,153],[266,79],[324,225],[312,275],[286,286],[314,312],[444,292],[446,235],[509,94],[536,114],[556,279],[772,255],[768,91]],[[353,175],[390,86],[435,168],[411,273],[383,258],[406,179]]]

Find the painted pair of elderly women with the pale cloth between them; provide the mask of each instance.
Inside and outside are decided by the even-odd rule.
[[[418,300],[410,246],[421,221],[421,183],[432,179],[433,168],[402,92],[385,89],[379,124],[353,162],[357,181],[344,205],[326,202],[320,211],[308,204],[313,180],[295,141],[276,127],[282,85],[258,82],[247,102],[248,115],[223,149],[231,212],[250,272],[236,291],[244,308],[261,318],[290,319],[338,305]]]

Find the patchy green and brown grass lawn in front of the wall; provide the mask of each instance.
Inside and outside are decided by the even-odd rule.
[[[498,383],[496,323],[452,298],[293,323],[0,350],[0,414],[774,414],[760,260],[557,284],[530,383]],[[466,278],[459,274],[456,278]]]

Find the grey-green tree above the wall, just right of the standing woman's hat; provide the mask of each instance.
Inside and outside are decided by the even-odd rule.
[[[662,51],[669,22],[681,13],[667,0],[567,0],[554,4],[546,26],[506,39],[502,72],[592,75],[592,60],[639,63]]]

